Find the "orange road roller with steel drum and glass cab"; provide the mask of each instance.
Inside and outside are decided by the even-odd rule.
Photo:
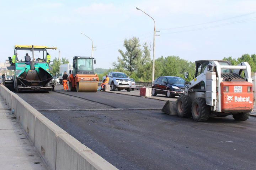
[[[77,92],[97,92],[98,75],[94,73],[93,57],[73,57],[73,70],[69,70],[69,90]]]

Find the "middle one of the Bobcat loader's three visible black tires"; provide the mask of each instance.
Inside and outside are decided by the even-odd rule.
[[[198,97],[192,103],[191,112],[194,121],[207,121],[210,115],[210,106],[206,104],[205,98]]]

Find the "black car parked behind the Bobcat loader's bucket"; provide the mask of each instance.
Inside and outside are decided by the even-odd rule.
[[[152,83],[152,95],[163,94],[174,97],[184,94],[185,80],[175,76],[161,76]]]

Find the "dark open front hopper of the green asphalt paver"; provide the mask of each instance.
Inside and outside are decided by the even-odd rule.
[[[45,87],[53,79],[52,75],[43,68],[28,70],[27,68],[18,77],[18,80],[25,86]]]

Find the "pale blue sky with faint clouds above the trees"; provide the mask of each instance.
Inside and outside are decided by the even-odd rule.
[[[155,58],[222,59],[256,53],[255,0],[3,0],[0,10],[0,62],[14,45],[56,46],[60,57],[91,56],[95,68],[113,68],[125,51],[124,39],[136,36],[153,46]],[[48,50],[51,60],[59,50]],[[32,53],[29,53],[32,57]],[[25,56],[21,52],[18,58]],[[153,51],[151,51],[153,58]]]

